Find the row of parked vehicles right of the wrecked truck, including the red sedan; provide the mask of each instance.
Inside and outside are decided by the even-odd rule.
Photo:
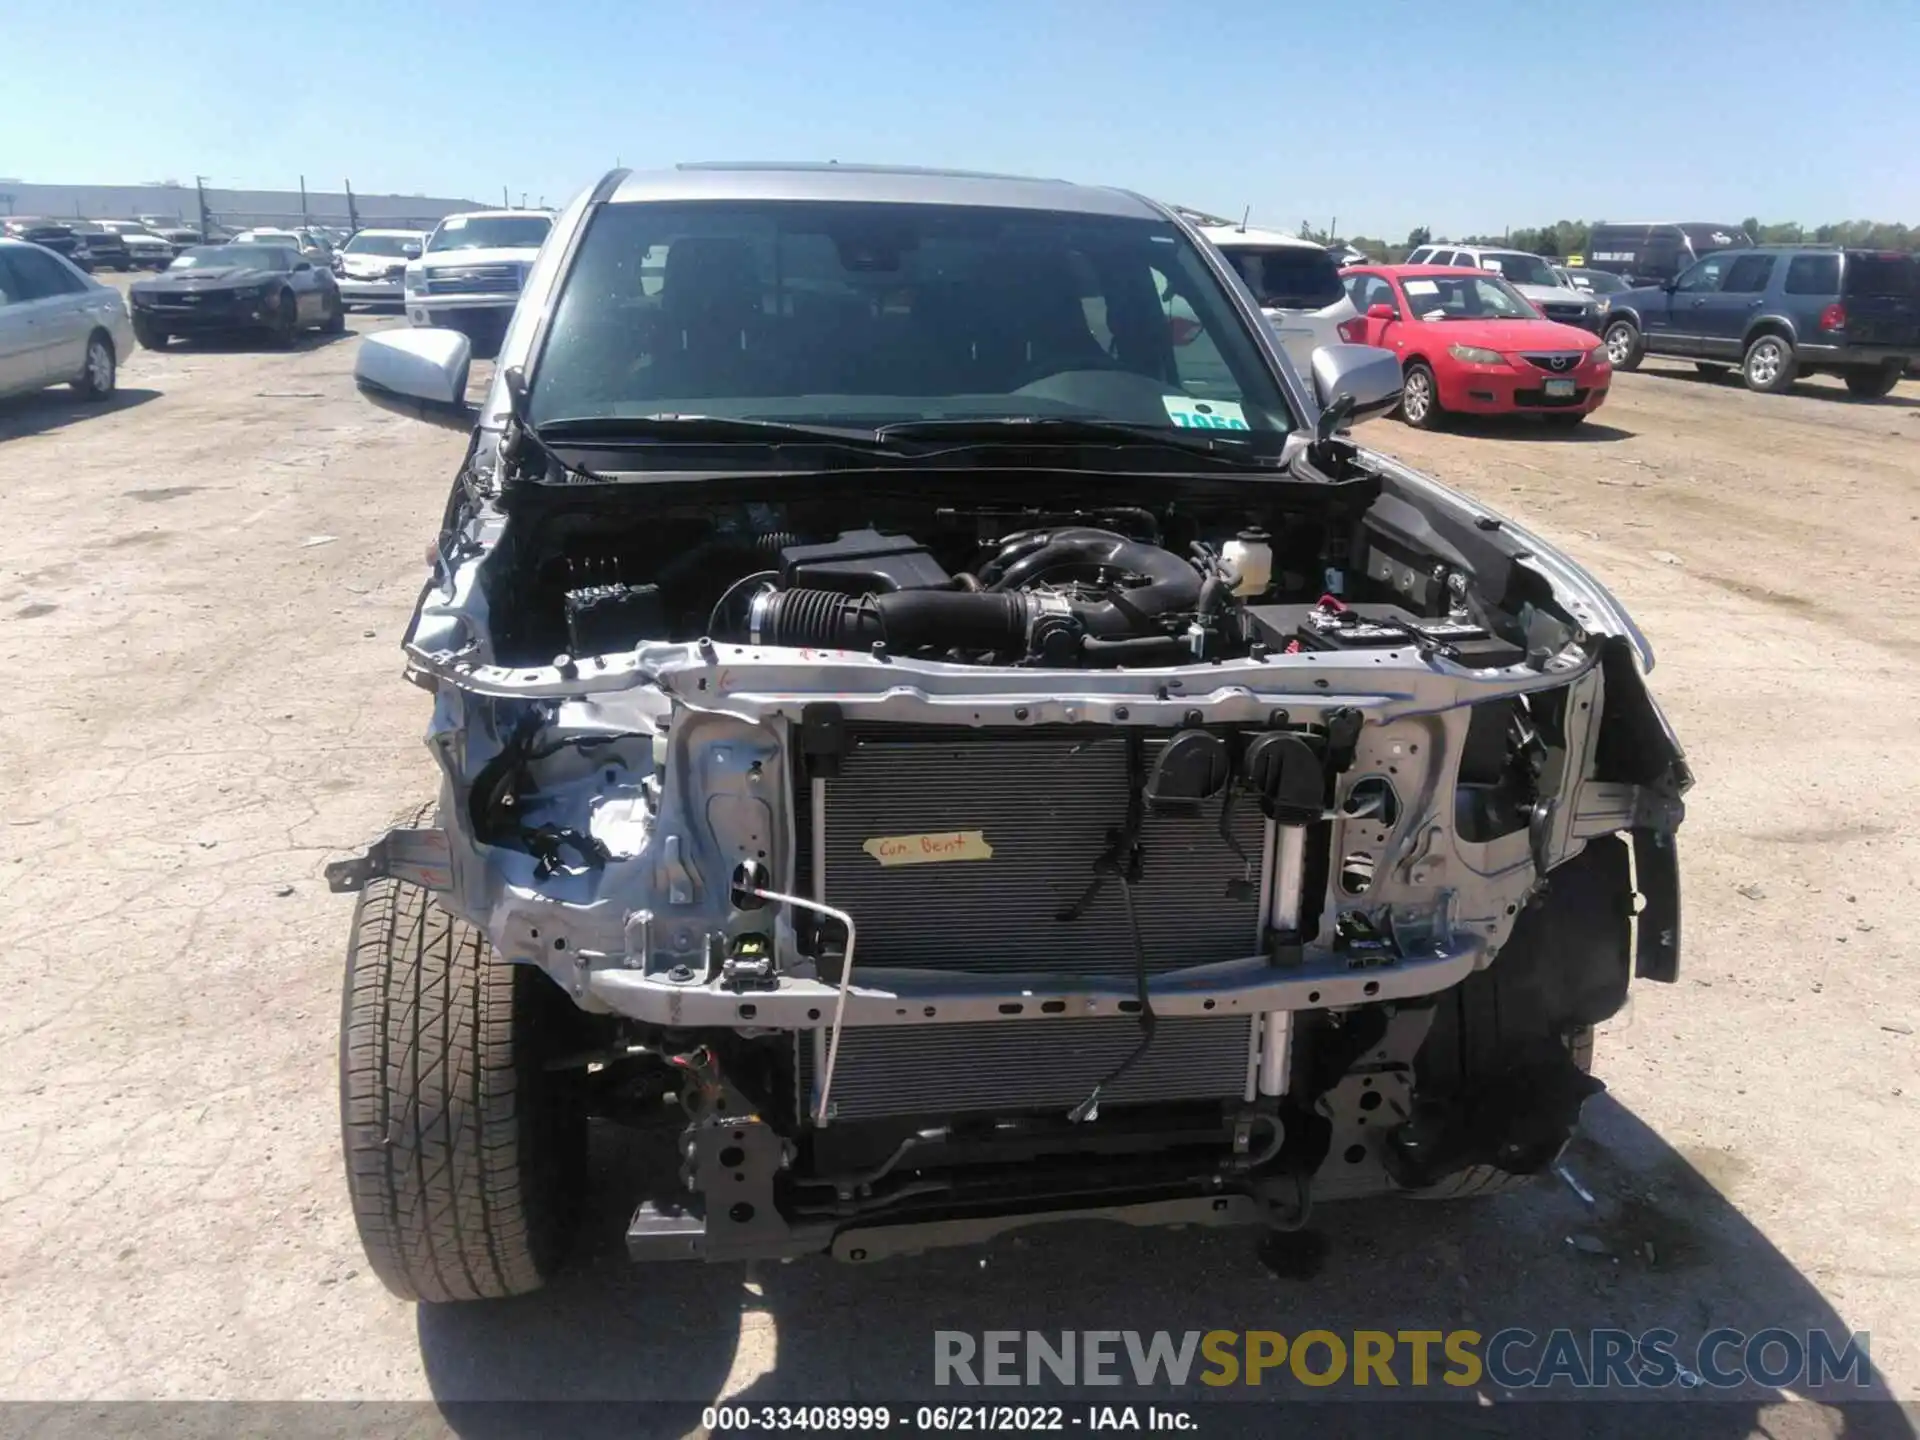
[[[1732,225],[1640,223],[1594,227],[1590,253],[1567,263],[1434,242],[1405,265],[1336,271],[1332,252],[1298,236],[1187,217],[1208,221],[1202,234],[1302,372],[1334,340],[1398,351],[1402,417],[1423,428],[1455,413],[1578,424],[1605,403],[1611,372],[1645,355],[1693,359],[1707,374],[1738,367],[1761,392],[1834,374],[1878,397],[1920,372],[1920,255],[1905,252],[1755,246]]]

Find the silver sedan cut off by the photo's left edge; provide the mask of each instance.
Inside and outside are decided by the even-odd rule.
[[[52,250],[0,240],[0,396],[71,384],[84,399],[106,399],[131,349],[119,290]]]

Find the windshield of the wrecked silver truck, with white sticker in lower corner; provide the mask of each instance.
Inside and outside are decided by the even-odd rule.
[[[603,209],[532,415],[1292,424],[1231,292],[1169,223],[828,202]]]

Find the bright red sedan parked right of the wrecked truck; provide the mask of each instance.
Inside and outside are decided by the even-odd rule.
[[[1354,344],[1400,355],[1400,417],[1432,430],[1448,415],[1544,415],[1580,424],[1607,399],[1607,348],[1557,324],[1490,271],[1356,265],[1340,271],[1357,319]]]

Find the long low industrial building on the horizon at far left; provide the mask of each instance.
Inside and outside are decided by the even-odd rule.
[[[367,196],[342,190],[223,190],[204,182],[27,184],[0,179],[0,215],[119,219],[148,215],[205,230],[259,225],[384,225],[430,230],[442,215],[474,209],[472,200],[438,196]]]

